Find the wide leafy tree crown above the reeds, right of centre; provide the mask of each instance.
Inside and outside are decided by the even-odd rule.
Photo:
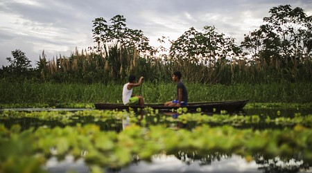
[[[241,48],[234,41],[218,34],[214,26],[205,26],[203,33],[192,27],[172,43],[169,53],[173,60],[211,65],[239,56]]]

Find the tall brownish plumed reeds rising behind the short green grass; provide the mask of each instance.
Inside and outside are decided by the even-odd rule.
[[[309,82],[312,81],[312,58],[309,55],[294,66],[281,66],[278,61],[255,59],[198,63],[191,60],[173,62],[154,55],[139,55],[135,48],[120,50],[112,46],[107,53],[76,50],[70,57],[47,61],[40,57],[40,78],[48,82],[125,82],[130,73],[144,75],[149,82],[171,82],[173,71],[180,70],[184,80],[202,84]]]

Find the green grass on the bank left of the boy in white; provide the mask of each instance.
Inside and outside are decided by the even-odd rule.
[[[51,82],[6,82],[1,80],[1,103],[116,102],[121,95],[116,84],[58,84]]]

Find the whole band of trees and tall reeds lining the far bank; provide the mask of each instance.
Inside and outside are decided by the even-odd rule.
[[[160,38],[171,44],[168,50],[150,46],[142,30],[126,26],[123,15],[110,22],[99,17],[92,29],[96,46],[53,60],[43,51],[35,69],[25,53],[15,50],[0,74],[7,79],[92,83],[124,82],[132,73],[157,82],[170,81],[171,73],[180,70],[184,80],[208,84],[311,81],[312,16],[290,5],[269,12],[240,46],[214,26],[204,26],[202,31],[189,28],[176,40]]]

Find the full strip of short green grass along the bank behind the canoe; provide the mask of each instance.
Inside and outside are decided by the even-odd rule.
[[[200,84],[184,82],[189,102],[243,100],[250,102],[312,102],[311,82],[271,84]],[[1,104],[42,103],[58,106],[66,103],[122,102],[122,86],[117,83],[58,84],[51,82],[0,82]],[[144,82],[141,92],[146,103],[162,103],[176,95],[173,82]],[[139,88],[134,89],[139,94]]]

